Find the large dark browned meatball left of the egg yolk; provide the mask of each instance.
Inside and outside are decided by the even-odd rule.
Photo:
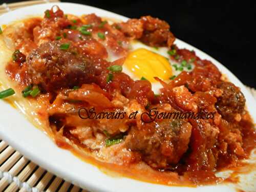
[[[96,66],[70,42],[48,41],[27,57],[28,73],[45,91],[94,81]]]

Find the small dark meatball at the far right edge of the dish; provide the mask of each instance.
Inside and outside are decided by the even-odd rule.
[[[245,97],[240,89],[231,82],[220,82],[217,87],[222,90],[222,96],[218,98],[216,109],[222,118],[230,121],[236,114],[244,111]]]

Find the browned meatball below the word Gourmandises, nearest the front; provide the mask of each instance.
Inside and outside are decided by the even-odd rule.
[[[187,151],[191,127],[181,119],[145,123],[141,129],[132,127],[125,142],[130,150],[140,152],[148,165],[167,168]]]

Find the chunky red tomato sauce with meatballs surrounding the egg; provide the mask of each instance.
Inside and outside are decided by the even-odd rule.
[[[13,39],[20,42],[16,49],[21,53],[8,63],[6,73],[19,84],[20,90],[34,83],[42,94],[48,94],[44,102],[52,109],[39,111],[38,115],[49,121],[47,133],[53,132],[51,137],[59,147],[70,150],[104,172],[108,170],[120,176],[165,185],[237,183],[239,174],[255,169],[241,163],[241,160],[249,158],[256,143],[254,124],[244,109],[243,94],[232,83],[221,80],[221,73],[213,63],[200,59],[193,51],[173,45],[175,37],[165,22],[147,16],[110,25],[95,14],[77,17],[74,22],[60,9],[51,9],[44,19],[31,18],[24,23],[25,31],[20,33],[29,35]],[[86,35],[82,35],[81,28],[86,28],[86,33],[83,31]],[[131,38],[140,39],[147,45],[175,49],[172,59],[189,61],[195,68],[191,72],[180,73],[169,83],[159,79],[163,86],[159,96],[154,95],[149,81],[134,81],[122,72],[113,72],[112,79],[109,79],[108,67],[122,65],[129,52],[119,41],[127,45]],[[61,49],[63,44],[68,44],[68,48]],[[123,58],[106,61],[107,49]],[[79,89],[72,89],[74,86],[79,86]],[[112,103],[114,99],[121,103],[116,108]],[[38,98],[37,101],[42,102]],[[95,124],[96,121],[90,121],[90,126],[86,124],[89,127],[104,124],[111,137],[123,134],[119,127],[126,127],[124,142],[127,142],[125,146],[129,146],[132,157],[125,157],[124,164],[118,165],[88,155],[93,148],[82,142],[83,133],[74,132],[81,126],[81,119],[74,117],[72,110],[95,105],[98,111],[123,110],[124,105],[129,110],[142,112],[154,106],[166,111],[164,106],[172,106],[172,110],[180,112],[202,111],[217,115],[209,120],[178,122],[156,120],[144,123],[124,119]],[[62,112],[67,112],[66,106],[70,107],[69,113]],[[99,133],[106,137],[102,129],[94,130],[92,135]],[[65,138],[80,149],[65,142]],[[189,142],[185,144],[185,141]],[[234,173],[225,180],[217,178],[215,173],[225,168],[234,168]]]

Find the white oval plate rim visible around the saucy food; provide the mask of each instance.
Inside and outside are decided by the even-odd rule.
[[[58,5],[65,13],[81,15],[96,13],[99,16],[112,17],[127,20],[127,17],[102,9],[71,3],[42,4],[18,9],[0,16],[0,25],[9,24],[29,15],[38,15]],[[195,50],[196,54],[203,59],[211,60],[231,82],[240,87],[246,98],[248,111],[256,122],[256,102],[252,95],[236,76],[214,58],[202,51],[176,39],[175,43],[180,48]],[[1,59],[1,58],[0,58]],[[6,140],[17,151],[38,165],[46,168],[49,172],[68,180],[76,185],[91,191],[236,191],[228,185],[212,185],[191,187],[175,187],[141,182],[125,177],[111,177],[102,173],[97,167],[81,161],[69,151],[62,150],[43,132],[36,129],[26,120],[23,114],[12,108],[8,103],[0,101],[0,138]]]

